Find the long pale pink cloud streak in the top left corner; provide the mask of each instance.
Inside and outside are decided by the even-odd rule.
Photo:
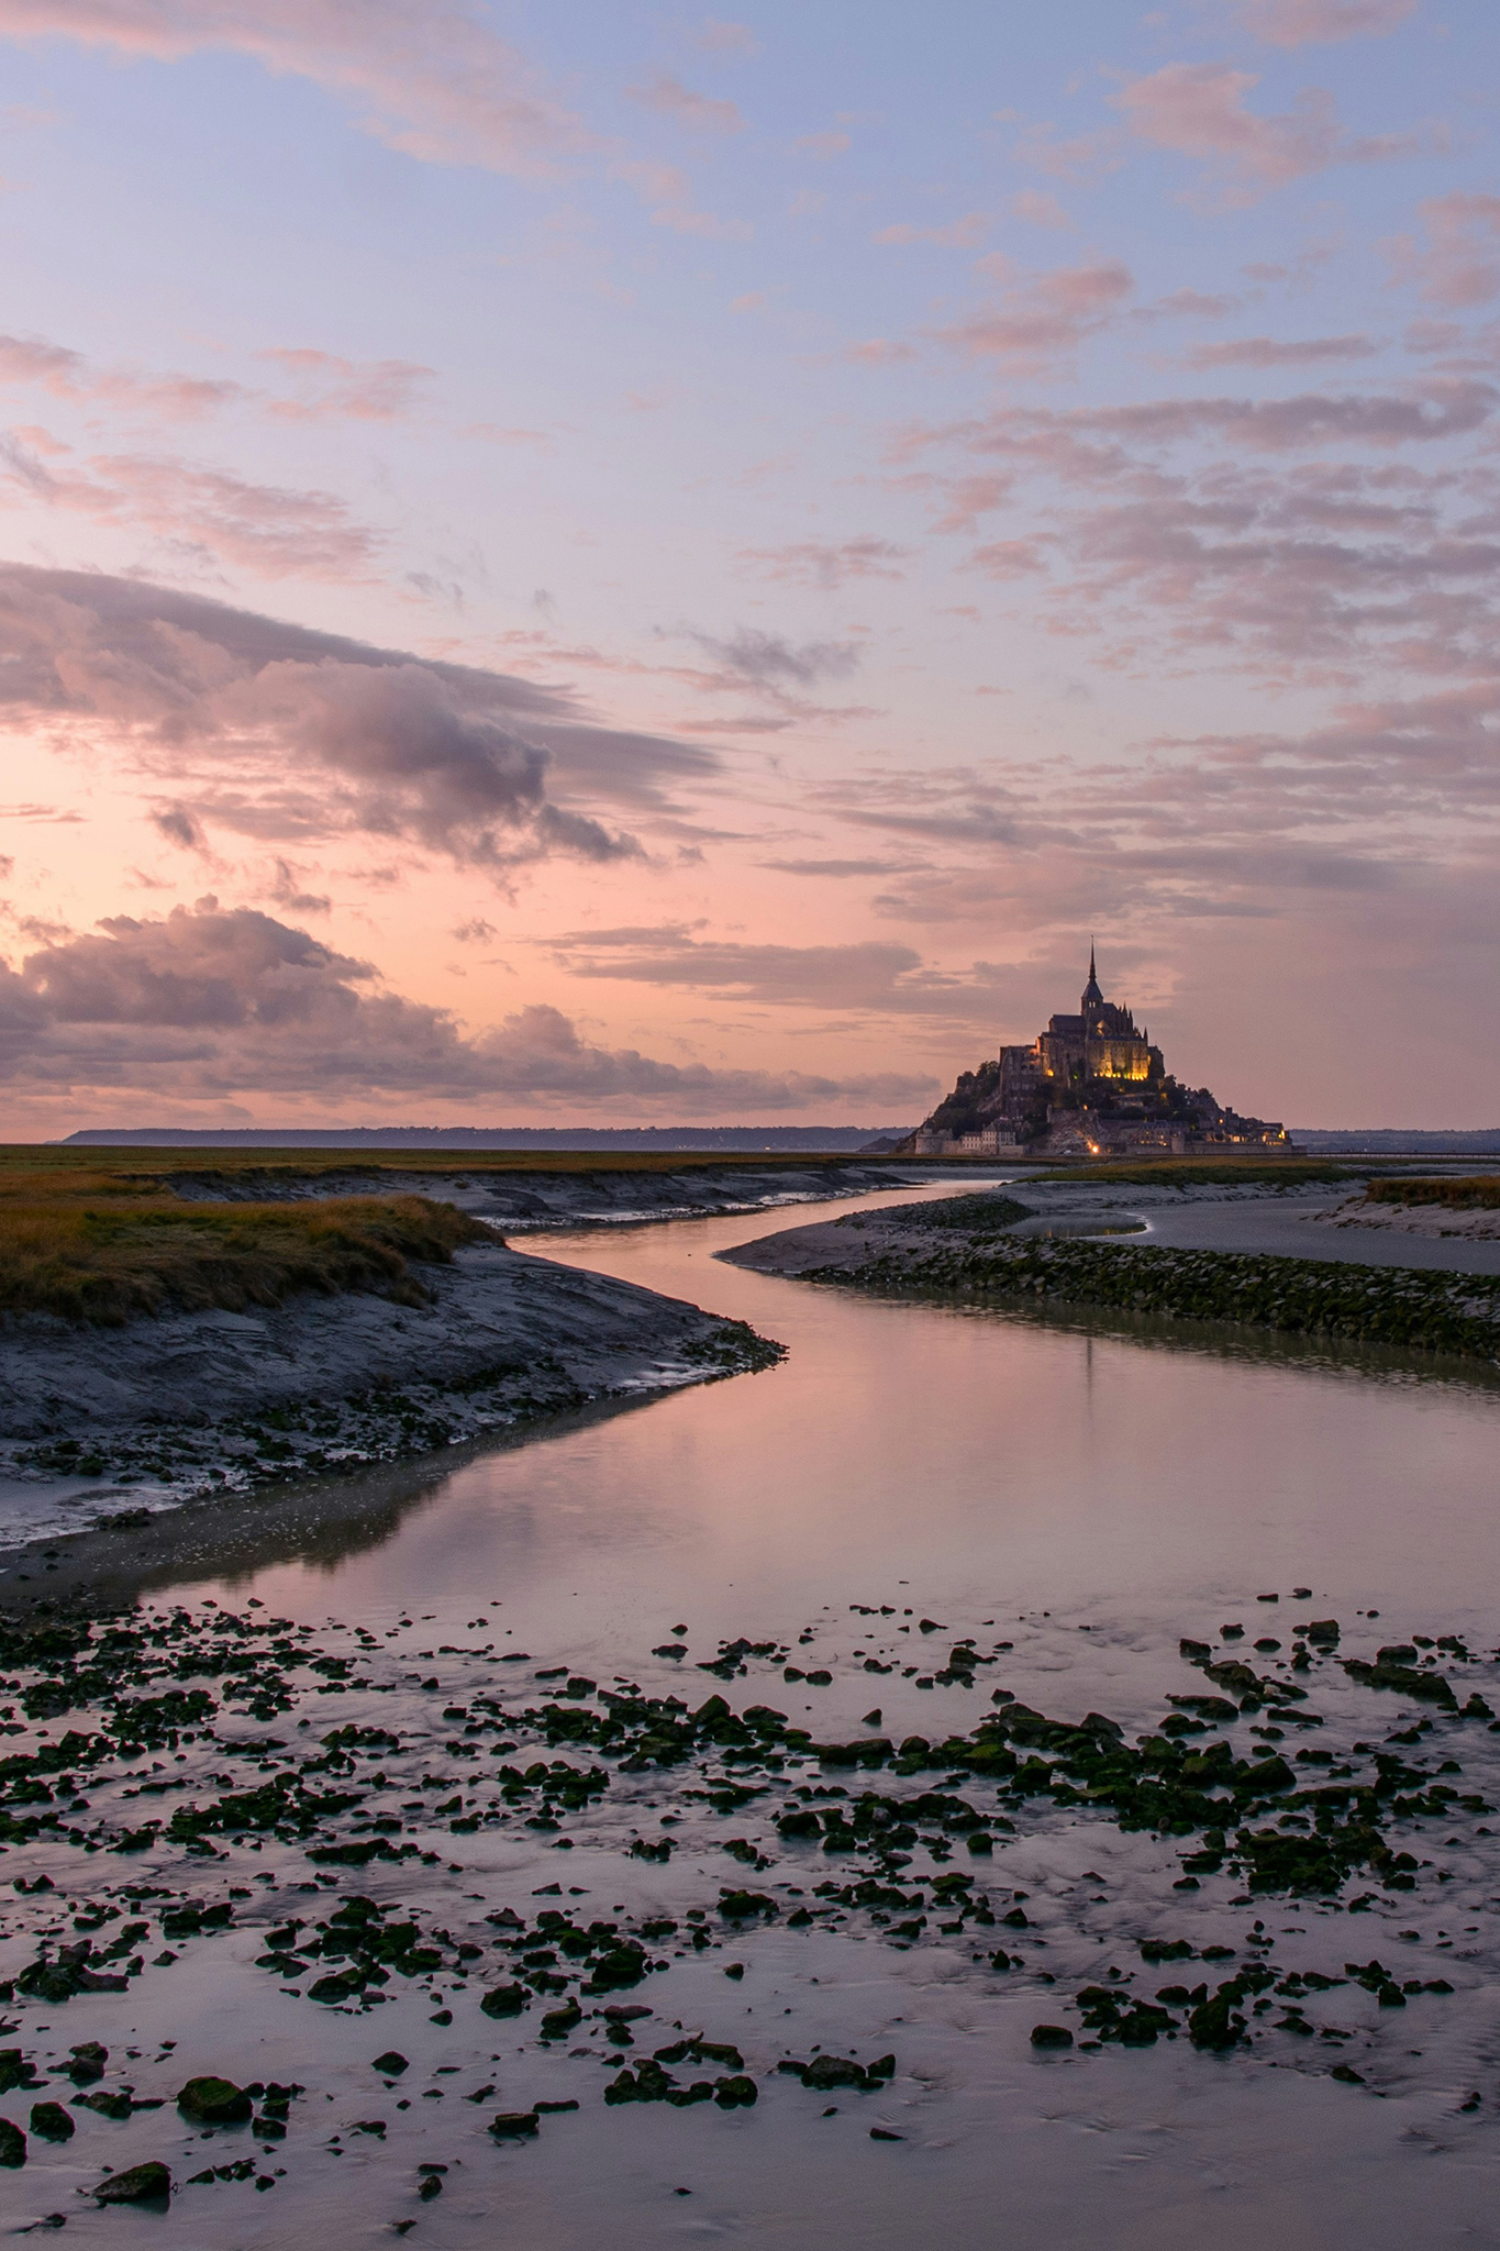
[[[0,36],[178,61],[250,54],[360,104],[360,131],[427,164],[544,173],[585,146],[573,117],[461,0],[4,0]]]

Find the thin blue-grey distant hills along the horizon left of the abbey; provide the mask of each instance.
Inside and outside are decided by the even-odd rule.
[[[909,1126],[99,1126],[63,1148],[859,1150]]]

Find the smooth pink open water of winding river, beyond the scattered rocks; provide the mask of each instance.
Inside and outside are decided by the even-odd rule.
[[[1111,1670],[1136,1634],[1154,1648],[1293,1585],[1343,1616],[1487,1630],[1487,1380],[879,1303],[713,1258],[756,1234],[765,1220],[740,1218],[549,1240],[551,1258],[749,1319],[789,1357],[468,1461],[398,1540],[340,1564],[337,1600],[373,1616],[416,1587],[427,1609],[504,1598],[517,1634],[609,1668],[681,1618],[697,1650],[895,1600],[902,1580],[963,1630],[1086,1621],[1095,1661],[1120,1643]],[[301,1576],[263,1591],[288,1607]],[[1091,1666],[1077,1695],[1104,1693],[1093,1681]]]

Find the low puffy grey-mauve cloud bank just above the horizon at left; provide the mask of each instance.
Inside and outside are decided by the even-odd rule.
[[[367,961],[306,930],[205,898],[164,918],[112,916],[0,963],[0,1078],[16,1092],[121,1092],[182,1101],[245,1094],[497,1096],[616,1114],[724,1116],[828,1103],[915,1105],[929,1076],[830,1078],[659,1062],[596,1047],[558,1008],[479,1035],[389,993]]]

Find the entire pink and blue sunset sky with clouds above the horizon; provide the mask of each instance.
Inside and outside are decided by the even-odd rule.
[[[0,1137],[1493,1126],[1500,11],[0,0]]]

